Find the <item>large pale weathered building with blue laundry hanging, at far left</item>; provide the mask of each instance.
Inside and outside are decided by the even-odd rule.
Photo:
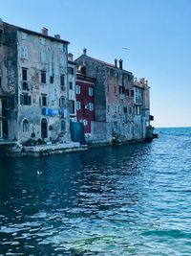
[[[70,141],[69,42],[0,22],[0,140]]]

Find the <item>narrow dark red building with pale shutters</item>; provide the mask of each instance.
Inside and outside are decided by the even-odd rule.
[[[83,65],[76,74],[76,109],[77,122],[83,123],[87,137],[95,121],[95,79],[86,76]]]

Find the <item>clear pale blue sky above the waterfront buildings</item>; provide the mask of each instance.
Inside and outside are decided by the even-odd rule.
[[[60,34],[74,58],[122,58],[149,81],[156,128],[191,127],[190,13],[190,0],[0,0],[3,21]]]

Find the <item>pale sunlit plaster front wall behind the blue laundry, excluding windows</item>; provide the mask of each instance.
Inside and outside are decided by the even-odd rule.
[[[22,49],[26,49],[27,58],[23,58]],[[65,50],[64,50],[65,49]],[[62,140],[70,140],[69,116],[63,118],[66,122],[65,132],[61,134],[61,116],[42,114],[42,95],[47,96],[47,108],[58,110],[60,97],[65,99],[65,107],[68,107],[68,82],[67,82],[67,47],[66,45],[32,35],[22,31],[17,32],[18,51],[18,126],[19,141],[31,138],[41,138],[41,120],[45,118],[48,124],[48,140],[55,140],[61,135]],[[23,90],[22,68],[28,70],[29,90]],[[46,71],[46,83],[41,83],[41,71]],[[60,75],[65,75],[64,89],[61,90]],[[53,77],[53,82],[50,81]],[[20,94],[28,93],[32,96],[32,105],[23,105],[20,102]],[[29,132],[23,132],[23,120],[29,121]]]

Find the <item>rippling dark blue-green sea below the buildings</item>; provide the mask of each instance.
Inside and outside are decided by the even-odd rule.
[[[0,256],[191,255],[191,128],[0,158]]]

